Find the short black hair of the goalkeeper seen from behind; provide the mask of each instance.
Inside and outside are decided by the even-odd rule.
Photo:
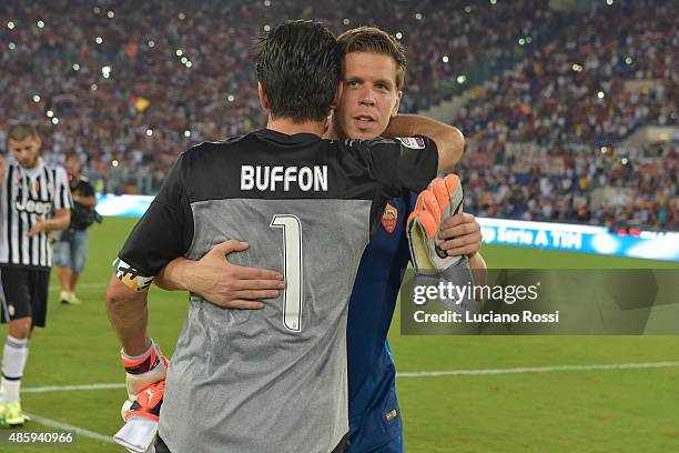
[[[315,21],[275,27],[257,49],[257,80],[273,118],[295,123],[322,121],[342,78],[342,54],[333,33]]]

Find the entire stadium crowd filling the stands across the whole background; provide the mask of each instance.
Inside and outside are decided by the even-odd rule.
[[[474,143],[460,169],[478,189],[467,191],[469,210],[610,224],[632,215],[677,229],[676,148],[663,149],[652,175],[632,157],[616,159],[639,125],[677,124],[678,8],[611,3],[574,20],[531,1],[6,2],[0,142],[10,119],[32,121],[55,159],[81,155],[100,191],[154,193],[191,143],[263,124],[252,37],[286,17],[322,19],[336,32],[374,23],[408,48],[402,112],[503,74],[472,90],[453,121]],[[600,147],[610,153],[592,151]],[[557,172],[547,157],[564,162]],[[636,191],[631,214],[596,208],[601,188],[621,185]]]

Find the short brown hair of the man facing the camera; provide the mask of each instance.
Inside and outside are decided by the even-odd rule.
[[[389,56],[396,62],[396,89],[403,88],[407,66],[405,47],[386,31],[376,27],[358,27],[337,37],[342,56],[354,52]],[[344,64],[344,59],[342,60]]]

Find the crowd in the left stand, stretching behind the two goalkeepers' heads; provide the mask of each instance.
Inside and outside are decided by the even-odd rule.
[[[0,118],[59,121],[48,148],[87,153],[104,164],[95,165],[100,171],[113,160],[163,169],[190,142],[263,124],[253,37],[283,17],[320,18],[336,32],[378,23],[401,37],[411,49],[402,111],[417,111],[432,102],[440,79],[533,27],[543,12],[528,3],[488,4],[483,13],[480,7],[466,12],[463,1],[452,2],[453,12],[427,2],[420,9],[358,0],[341,7],[277,0],[6,3],[0,61],[8,90],[0,94]],[[508,58],[498,52],[498,61]],[[121,172],[131,171],[113,169]]]

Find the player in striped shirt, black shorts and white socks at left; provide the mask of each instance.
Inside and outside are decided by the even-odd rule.
[[[29,338],[33,326],[44,326],[47,318],[52,266],[49,232],[68,228],[72,203],[65,170],[44,163],[40,157],[42,142],[36,128],[13,127],[8,142],[12,159],[0,171],[2,322],[9,323],[2,354],[0,422],[21,425],[27,416],[19,392]]]

